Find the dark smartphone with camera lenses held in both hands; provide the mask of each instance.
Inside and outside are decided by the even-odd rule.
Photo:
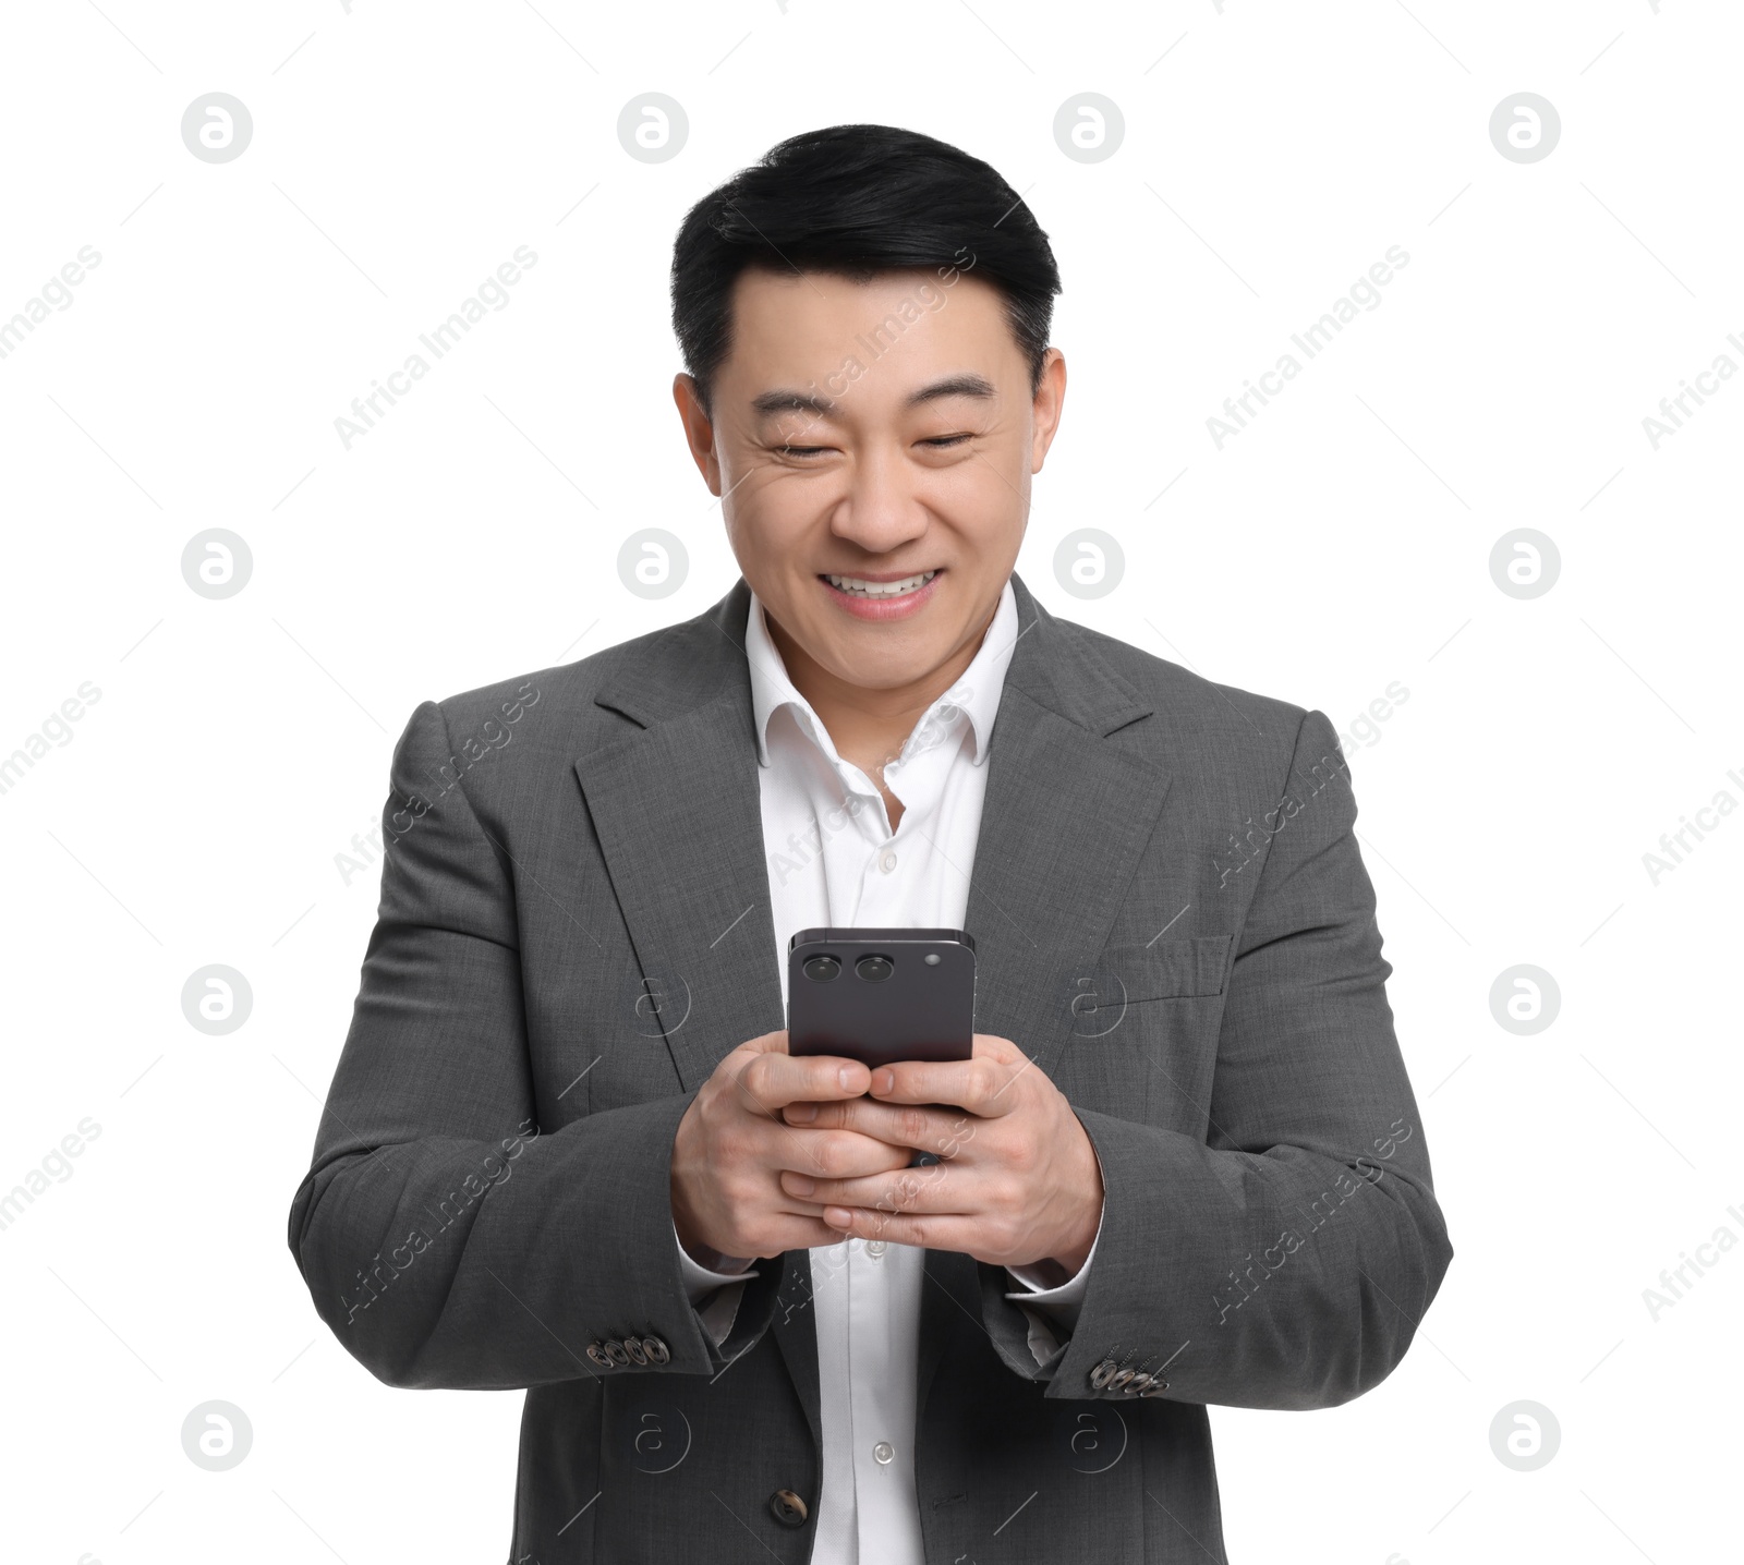
[[[975,941],[961,929],[800,929],[787,945],[787,1049],[874,1070],[975,1051]]]

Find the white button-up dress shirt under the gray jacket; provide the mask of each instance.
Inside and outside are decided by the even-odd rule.
[[[884,784],[903,805],[891,831],[874,781],[837,755],[788,680],[762,605],[752,596],[745,654],[774,910],[771,955],[783,997],[787,943],[799,929],[963,927],[987,791],[987,746],[1017,636],[1017,598],[1006,582],[973,662],[884,767]],[[682,1246],[678,1257],[691,1302],[719,1345],[732,1328],[745,1277],[757,1274],[734,1257],[720,1257],[715,1269],[699,1265]],[[814,1565],[924,1565],[914,1441],[926,1251],[848,1239],[809,1257],[823,1433],[811,1558]],[[1078,1276],[1048,1290],[1025,1276],[1029,1269],[1010,1269],[1020,1291],[1006,1297],[1029,1318],[1038,1365],[1071,1333],[1088,1267],[1087,1257]]]

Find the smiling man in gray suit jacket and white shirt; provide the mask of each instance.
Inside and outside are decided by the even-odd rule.
[[[1013,575],[1057,291],[956,148],[774,148],[673,260],[743,580],[394,753],[290,1241],[382,1380],[528,1389],[514,1562],[1223,1560],[1205,1405],[1448,1267],[1331,723]],[[790,1056],[809,925],[968,929],[973,1060]]]

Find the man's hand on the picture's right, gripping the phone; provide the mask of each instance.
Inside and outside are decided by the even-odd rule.
[[[855,1180],[783,1173],[783,1189],[818,1203],[842,1237],[957,1250],[992,1265],[1059,1267],[1059,1283],[1083,1267],[1095,1241],[1095,1148],[1060,1089],[1010,1039],[975,1033],[970,1060],[882,1065],[870,1096],[788,1103],[783,1115],[938,1157]]]

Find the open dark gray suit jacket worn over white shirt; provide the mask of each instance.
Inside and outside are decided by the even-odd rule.
[[[928,1253],[926,1556],[1203,1565],[1224,1558],[1205,1405],[1367,1391],[1453,1251],[1331,723],[1013,587],[975,1021],[1066,1093],[1107,1196],[1041,1366],[1005,1272]],[[527,1387],[518,1565],[811,1553],[814,1518],[774,1499],[809,1511],[821,1476],[807,1253],[762,1265],[715,1349],[668,1208],[691,1096],[783,1025],[748,605],[739,580],[684,624],[424,702],[394,751],[380,917],[290,1244],[378,1379]],[[588,1356],[626,1335],[668,1361]]]

